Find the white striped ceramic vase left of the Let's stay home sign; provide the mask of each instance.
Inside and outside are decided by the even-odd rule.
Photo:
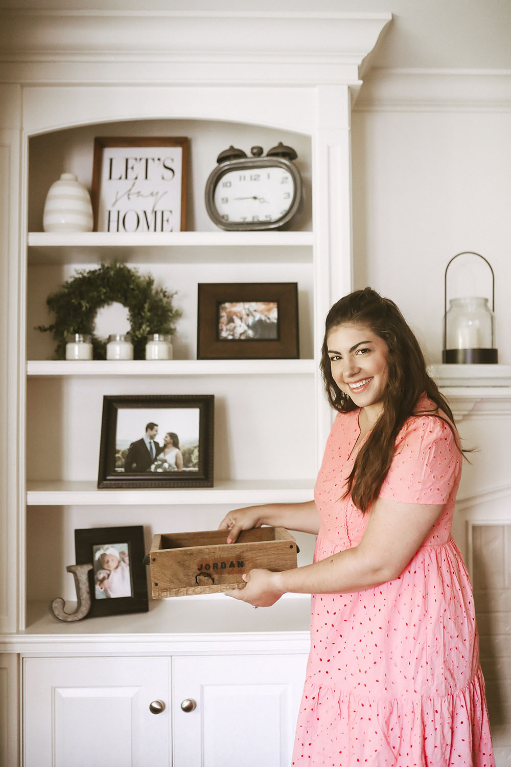
[[[74,173],[62,173],[48,189],[43,229],[44,232],[92,232],[90,195]]]

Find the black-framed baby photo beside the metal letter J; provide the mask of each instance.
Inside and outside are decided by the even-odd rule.
[[[93,565],[88,616],[149,610],[142,525],[75,530],[74,550],[77,565]]]

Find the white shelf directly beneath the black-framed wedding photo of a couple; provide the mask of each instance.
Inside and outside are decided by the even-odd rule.
[[[124,506],[300,503],[313,499],[314,479],[218,480],[211,488],[98,490],[93,480],[27,482],[29,506]]]

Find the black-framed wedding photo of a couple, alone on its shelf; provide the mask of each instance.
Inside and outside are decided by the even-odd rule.
[[[211,487],[213,394],[103,397],[98,488]]]

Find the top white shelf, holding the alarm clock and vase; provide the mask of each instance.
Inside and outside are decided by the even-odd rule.
[[[30,265],[312,262],[313,232],[29,232]]]

